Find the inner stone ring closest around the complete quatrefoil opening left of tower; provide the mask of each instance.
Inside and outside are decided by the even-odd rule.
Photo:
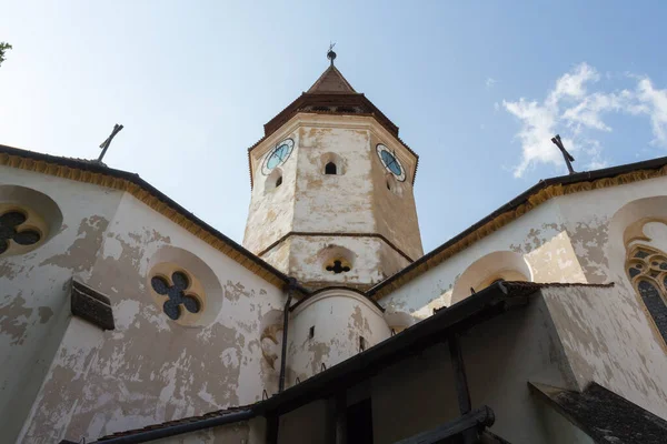
[[[151,283],[153,278],[161,278],[165,281],[167,281],[170,285],[173,285],[172,278],[171,278],[173,275],[173,273],[182,273],[188,278],[189,285],[186,287],[183,293],[188,296],[195,297],[197,300],[197,302],[199,303],[199,311],[197,313],[192,313],[188,310],[185,310],[182,304],[179,304],[180,316],[176,320],[171,319],[165,312],[165,303],[167,301],[169,301],[169,296],[158,293],[153,289],[152,283]],[[160,262],[160,263],[157,263],[156,265],[153,265],[152,269],[150,270],[150,272],[148,273],[148,289],[149,289],[149,292],[150,292],[152,299],[156,301],[158,307],[160,309],[161,315],[163,315],[167,320],[169,320],[171,322],[176,322],[179,325],[198,326],[198,322],[199,322],[200,317],[202,316],[203,313],[206,313],[207,293],[206,293],[203,285],[201,284],[201,281],[193,273],[191,273],[186,268],[183,268],[177,263]]]

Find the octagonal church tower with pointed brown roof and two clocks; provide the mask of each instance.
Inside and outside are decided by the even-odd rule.
[[[334,65],[248,150],[243,246],[310,289],[365,290],[424,254],[418,155]]]

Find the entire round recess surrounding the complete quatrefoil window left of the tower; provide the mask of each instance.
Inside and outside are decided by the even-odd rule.
[[[183,273],[189,279],[186,293],[197,297],[200,306],[197,313],[181,306],[181,316],[173,322],[183,326],[203,326],[216,320],[222,309],[222,286],[216,273],[201,259],[191,252],[176,246],[162,246],[148,263],[147,291],[153,299],[159,311],[169,319],[165,312],[165,303],[170,295],[159,294],[155,290],[152,280],[163,278],[168,285],[172,285],[173,273]]]

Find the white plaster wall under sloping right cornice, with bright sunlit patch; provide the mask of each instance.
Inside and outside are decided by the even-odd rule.
[[[380,304],[389,311],[428,316],[434,307],[450,304],[454,284],[475,261],[504,250],[522,254],[536,282],[627,282],[623,240],[620,245],[619,239],[609,242],[609,222],[626,204],[667,195],[665,190],[667,178],[657,178],[554,198],[385,296]]]

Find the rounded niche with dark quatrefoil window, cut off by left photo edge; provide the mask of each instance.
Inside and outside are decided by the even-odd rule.
[[[38,249],[62,226],[62,212],[47,194],[26,186],[0,185],[0,216],[17,213],[21,215],[21,220],[12,221],[9,228],[14,234],[27,231],[36,233],[37,241],[19,244],[13,239],[7,239],[4,242],[9,248],[1,256],[24,254]]]

